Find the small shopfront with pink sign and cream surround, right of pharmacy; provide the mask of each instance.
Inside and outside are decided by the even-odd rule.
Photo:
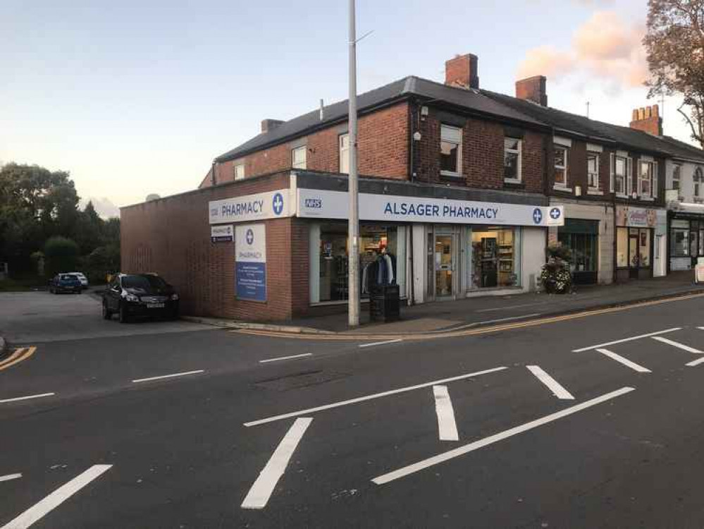
[[[616,209],[616,281],[664,275],[665,211],[618,206]]]

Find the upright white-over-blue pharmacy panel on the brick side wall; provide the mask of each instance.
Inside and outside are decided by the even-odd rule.
[[[266,301],[266,226],[235,227],[235,293],[237,299]]]

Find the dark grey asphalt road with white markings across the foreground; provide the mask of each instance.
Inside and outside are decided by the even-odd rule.
[[[701,528],[703,309],[366,347],[27,328],[0,529]]]

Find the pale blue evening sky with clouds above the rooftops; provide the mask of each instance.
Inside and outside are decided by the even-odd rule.
[[[646,0],[357,0],[358,92],[444,80],[478,56],[480,85],[548,77],[551,107],[628,125],[648,100]],[[198,186],[214,157],[347,98],[347,0],[2,0],[0,164],[70,171],[103,216]],[[665,99],[665,133],[690,141]]]

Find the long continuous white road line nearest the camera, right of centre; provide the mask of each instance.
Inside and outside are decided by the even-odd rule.
[[[572,415],[573,413],[577,413],[578,411],[583,411],[587,408],[591,408],[592,406],[596,406],[597,404],[610,401],[611,399],[615,399],[618,396],[622,396],[626,393],[630,393],[631,391],[635,391],[635,389],[636,388],[634,387],[622,387],[621,389],[617,389],[617,391],[612,391],[611,393],[598,396],[595,399],[591,399],[581,404],[570,406],[569,408],[566,408],[562,411],[558,411],[557,413],[545,415],[545,417],[536,420],[531,420],[531,422],[526,422],[524,425],[513,427],[510,430],[505,430],[498,434],[490,435],[489,437],[485,437],[484,439],[479,439],[478,441],[465,444],[464,446],[459,446],[456,449],[443,452],[443,454],[438,454],[437,456],[424,459],[423,461],[419,461],[418,463],[413,463],[412,465],[399,468],[398,470],[394,470],[393,472],[380,475],[377,478],[374,478],[372,482],[376,483],[376,485],[384,485],[385,483],[397,480],[399,478],[404,478],[405,476],[414,474],[416,472],[419,472],[420,470],[425,470],[426,468],[430,468],[431,466],[444,463],[445,461],[449,461],[450,459],[459,456],[464,456],[464,454],[469,454],[469,452],[478,450],[480,448],[483,448],[484,446],[489,446],[490,444],[502,441],[503,439],[508,439],[509,437],[512,437],[514,435],[533,430],[533,428],[537,428],[538,426],[548,424],[549,422],[553,422],[557,419],[562,419],[563,417],[567,417],[568,415]]]

